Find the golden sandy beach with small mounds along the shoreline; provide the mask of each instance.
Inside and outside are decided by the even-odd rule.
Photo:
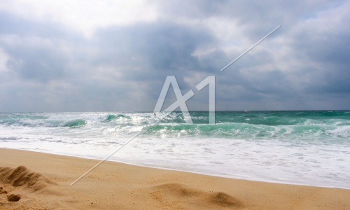
[[[0,209],[350,209],[350,190],[0,149]],[[19,195],[9,202],[9,195]]]

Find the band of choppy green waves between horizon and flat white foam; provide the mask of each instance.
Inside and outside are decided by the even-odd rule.
[[[181,112],[162,117],[153,113],[0,113],[0,125],[71,127],[112,134],[155,137],[218,137],[232,139],[325,139],[350,137],[350,112],[251,111],[217,112],[209,125],[208,112],[190,112],[194,125],[186,125]]]

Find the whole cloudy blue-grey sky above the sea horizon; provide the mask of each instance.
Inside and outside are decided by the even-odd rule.
[[[349,110],[349,20],[350,1],[0,1],[0,112],[153,111],[167,76],[190,111],[208,76],[217,111]]]

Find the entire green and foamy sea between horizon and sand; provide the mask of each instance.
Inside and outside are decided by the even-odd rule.
[[[205,111],[190,117],[193,125],[181,112],[0,113],[0,147],[350,189],[350,111],[216,111],[215,124]]]

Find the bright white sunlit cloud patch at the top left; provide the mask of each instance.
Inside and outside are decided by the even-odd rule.
[[[133,22],[150,22],[158,18],[155,5],[149,1],[1,1],[0,10],[26,20],[50,20],[91,37],[95,29]]]

